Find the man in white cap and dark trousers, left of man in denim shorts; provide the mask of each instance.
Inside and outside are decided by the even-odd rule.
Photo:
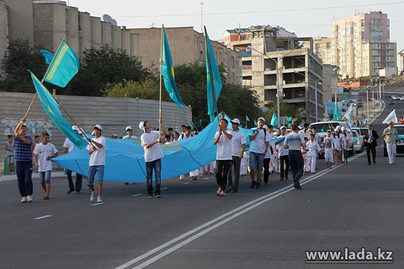
[[[231,127],[233,128],[233,138],[231,142],[233,144],[233,149],[231,152],[232,157],[232,165],[229,172],[228,184],[226,192],[230,192],[233,189],[233,192],[238,192],[238,183],[240,181],[240,165],[241,159],[244,155],[245,145],[247,144],[247,140],[245,140],[244,134],[240,131],[240,121],[238,119],[234,119],[230,121]],[[234,170],[234,184],[232,178],[232,171]]]

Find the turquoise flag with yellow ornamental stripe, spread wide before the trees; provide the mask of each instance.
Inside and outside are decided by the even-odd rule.
[[[64,88],[77,74],[79,67],[79,59],[66,41],[63,40],[51,65],[49,65],[46,71],[44,81]]]

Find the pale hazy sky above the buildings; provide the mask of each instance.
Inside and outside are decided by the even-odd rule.
[[[331,35],[334,19],[356,13],[382,11],[390,20],[390,41],[397,42],[397,52],[404,49],[404,2],[397,0],[66,0],[69,6],[86,11],[91,16],[109,14],[119,26],[147,28],[194,26],[207,27],[211,39],[223,39],[226,29],[240,26],[271,25],[282,26],[297,36]],[[203,2],[204,5],[200,3]]]

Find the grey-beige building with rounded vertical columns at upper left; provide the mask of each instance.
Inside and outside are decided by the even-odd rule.
[[[137,34],[58,0],[0,0],[0,53],[9,39],[17,38],[50,51],[56,51],[65,39],[79,58],[85,49],[105,44],[138,56]]]

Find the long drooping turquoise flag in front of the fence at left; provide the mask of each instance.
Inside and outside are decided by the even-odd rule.
[[[63,118],[61,111],[58,107],[58,102],[52,94],[43,86],[37,77],[30,71],[32,82],[34,83],[36,92],[38,93],[39,100],[45,110],[46,114],[51,118],[59,130],[73,142],[78,148],[83,148],[88,145],[87,140],[79,136],[70,126],[69,122]]]

